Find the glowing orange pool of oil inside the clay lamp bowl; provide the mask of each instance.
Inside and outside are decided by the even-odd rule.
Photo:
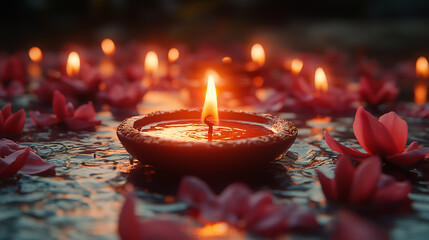
[[[168,140],[184,142],[208,141],[208,126],[196,119],[165,121],[148,124],[141,128],[145,135],[160,137]],[[213,141],[237,140],[253,138],[274,133],[271,126],[244,122],[222,121],[219,126],[213,127]]]

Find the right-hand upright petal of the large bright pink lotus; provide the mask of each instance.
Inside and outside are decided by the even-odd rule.
[[[396,153],[402,153],[407,144],[408,125],[407,122],[402,120],[395,112],[384,114],[378,120],[386,130],[390,133],[393,141],[396,144]]]

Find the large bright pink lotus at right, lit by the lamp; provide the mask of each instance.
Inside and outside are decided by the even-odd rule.
[[[411,165],[429,158],[429,148],[419,148],[417,142],[412,142],[405,149],[408,126],[395,112],[384,114],[377,120],[363,107],[359,107],[356,111],[353,131],[359,144],[367,153],[342,145],[328,132],[325,132],[325,141],[333,151],[355,161],[377,155],[393,164]]]

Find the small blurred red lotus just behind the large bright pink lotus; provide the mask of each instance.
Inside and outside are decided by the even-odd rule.
[[[361,77],[359,84],[360,99],[372,106],[391,103],[399,94],[399,89],[393,81],[376,82],[372,77]]]

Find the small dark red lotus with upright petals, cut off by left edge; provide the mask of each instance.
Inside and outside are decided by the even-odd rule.
[[[22,132],[25,125],[25,111],[12,113],[12,105],[7,104],[0,112],[0,135],[17,135]]]

